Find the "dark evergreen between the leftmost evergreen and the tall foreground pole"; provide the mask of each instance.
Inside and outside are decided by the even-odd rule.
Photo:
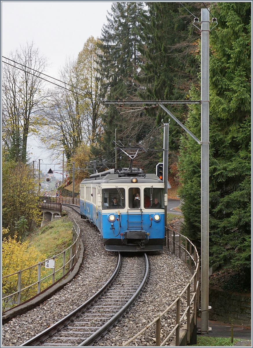
[[[198,66],[196,40],[199,31],[192,25],[193,16],[178,2],[148,2],[148,15],[143,19],[144,31],[140,46],[144,63],[138,81],[145,86],[139,94],[143,100],[183,100]],[[185,3],[196,16],[200,14],[199,3]],[[195,79],[195,83],[198,81]],[[169,105],[171,112],[184,121],[187,106]],[[150,111],[156,118],[168,120],[169,115],[161,108]],[[174,120],[170,122],[169,147],[178,150],[181,128]]]

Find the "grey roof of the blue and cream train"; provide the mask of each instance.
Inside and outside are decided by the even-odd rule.
[[[143,173],[140,168],[116,168],[109,169],[105,172],[90,175],[89,179],[84,179],[84,183],[132,183],[132,177],[137,178],[138,183],[157,183],[162,184],[163,181],[155,174]]]

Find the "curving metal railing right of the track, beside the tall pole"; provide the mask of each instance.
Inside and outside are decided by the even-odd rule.
[[[144,327],[141,331],[139,331],[136,335],[134,335],[130,340],[127,342],[124,342],[122,346],[127,346],[129,343],[131,343],[133,340],[135,340],[137,337],[139,337],[142,333],[144,333],[146,330],[149,329],[149,327],[156,324],[155,327],[155,340],[156,340],[156,346],[164,346],[165,343],[175,334],[176,338],[176,346],[179,346],[179,330],[180,325],[182,324],[182,321],[184,318],[186,318],[186,328],[187,328],[187,344],[190,342],[190,317],[191,317],[191,311],[193,311],[194,315],[194,325],[197,325],[197,308],[199,307],[199,256],[196,249],[196,246],[191,243],[191,241],[181,235],[180,233],[171,230],[170,228],[166,227],[167,229],[167,242],[168,247],[169,243],[171,243],[171,246],[173,248],[173,253],[175,254],[176,251],[178,252],[178,256],[180,259],[183,258],[183,261],[185,261],[185,264],[188,266],[192,277],[181,292],[177,296],[177,299],[175,299],[169,307],[167,307],[161,314],[157,314],[156,318],[150,322],[147,326]],[[169,231],[173,232],[173,235],[170,238]],[[178,243],[176,242],[176,237],[178,237]],[[184,255],[182,254],[182,251]],[[191,289],[192,286],[192,289]],[[186,300],[186,308],[183,308],[183,305],[185,301],[183,300],[183,296],[187,298]],[[161,342],[161,318],[168,314],[170,310],[173,309],[173,307],[176,306],[176,325],[171,329],[169,334],[166,336],[165,339]],[[180,316],[180,312],[183,311],[183,314]],[[163,330],[165,330],[165,326],[163,326]]]

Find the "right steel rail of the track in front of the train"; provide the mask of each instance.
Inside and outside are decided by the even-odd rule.
[[[148,278],[148,272],[149,272],[149,264],[148,264],[148,258],[147,255],[144,254],[145,256],[145,261],[146,261],[146,272],[144,275],[144,278],[138,287],[137,291],[133,294],[131,299],[103,326],[100,327],[96,332],[94,332],[89,338],[87,338],[85,341],[83,341],[78,347],[82,346],[91,346],[92,343],[96,340],[98,340],[102,334],[107,332],[113,324],[117,323],[119,319],[122,318],[122,316],[126,313],[126,311],[132,306],[133,302],[136,301],[138,298],[139,294],[141,293],[142,289],[144,288],[147,278]]]

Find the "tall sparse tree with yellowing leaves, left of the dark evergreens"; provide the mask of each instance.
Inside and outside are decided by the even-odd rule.
[[[63,88],[52,93],[47,111],[48,130],[42,137],[50,147],[64,150],[67,159],[101,132],[101,76],[97,70],[97,40],[90,37],[77,60],[68,58],[60,70]]]

